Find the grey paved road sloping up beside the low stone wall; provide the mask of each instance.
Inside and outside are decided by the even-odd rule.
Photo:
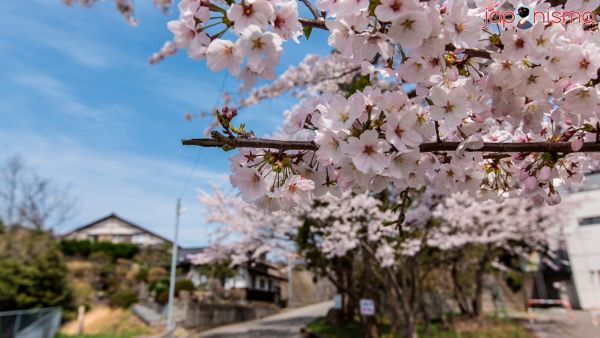
[[[300,329],[317,317],[327,314],[333,302],[313,304],[298,309],[285,311],[274,316],[250,322],[221,326],[205,331],[203,338],[297,338]]]

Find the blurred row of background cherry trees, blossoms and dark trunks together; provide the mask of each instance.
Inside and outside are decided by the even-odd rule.
[[[352,321],[361,298],[384,300],[395,332],[413,337],[420,316],[428,322],[427,292],[451,294],[467,315],[481,314],[484,275],[495,273],[505,253],[517,257],[549,252],[560,240],[565,209],[527,200],[478,202],[464,194],[426,191],[325,195],[287,213],[270,213],[214,189],[201,193],[209,221],[220,236],[193,258],[203,264],[237,264],[269,251],[298,255],[344,295],[340,319]],[[405,210],[401,225],[394,214]],[[286,229],[285,236],[279,231]],[[435,274],[452,284],[433,285]],[[377,336],[375,322],[366,323]]]

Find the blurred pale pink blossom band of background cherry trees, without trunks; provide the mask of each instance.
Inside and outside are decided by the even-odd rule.
[[[272,259],[295,261],[299,229],[308,226],[310,243],[327,258],[370,250],[381,267],[398,266],[430,248],[443,252],[486,245],[524,254],[557,248],[569,206],[551,207],[522,199],[477,201],[464,193],[442,194],[433,187],[412,190],[411,202],[386,189],[384,204],[372,194],[327,194],[289,212],[269,212],[215,188],[201,191],[206,222],[219,224],[197,264],[231,259],[239,264],[269,252]],[[393,205],[403,204],[397,226]],[[520,243],[515,245],[515,243]]]

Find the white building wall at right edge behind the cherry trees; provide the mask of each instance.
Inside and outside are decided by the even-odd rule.
[[[573,206],[565,235],[579,302],[583,309],[600,307],[600,222],[579,225],[582,218],[600,217],[600,190],[571,194],[565,202]]]

